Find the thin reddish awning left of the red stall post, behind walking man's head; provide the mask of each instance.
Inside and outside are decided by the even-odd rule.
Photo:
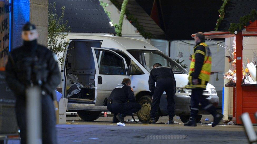
[[[195,37],[196,34],[192,34],[192,38]],[[235,34],[231,34],[229,31],[208,31],[204,33],[205,39],[215,39],[215,38],[230,38],[235,36]]]

